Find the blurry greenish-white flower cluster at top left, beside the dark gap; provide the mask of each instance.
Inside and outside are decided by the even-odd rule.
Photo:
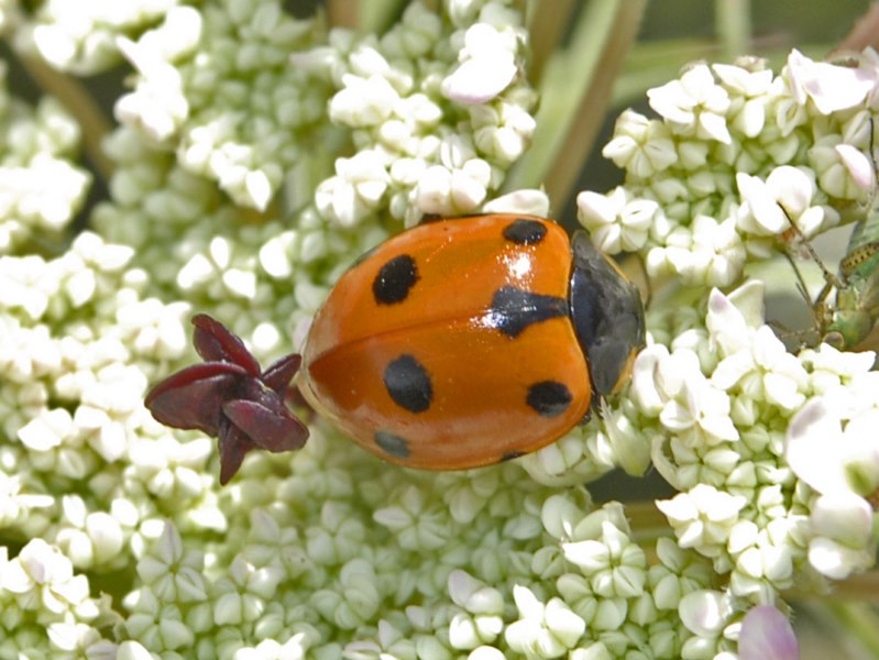
[[[265,210],[283,173],[307,176],[309,145],[326,150],[329,89],[288,62],[321,34],[316,19],[294,19],[276,1],[176,7],[138,41],[118,40],[139,77],[117,117],[176,148],[183,167],[235,202]]]

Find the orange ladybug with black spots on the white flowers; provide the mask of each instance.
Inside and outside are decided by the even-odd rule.
[[[297,384],[367,451],[464,470],[587,419],[644,342],[638,288],[585,232],[569,240],[534,216],[444,219],[342,275],[308,331]]]

